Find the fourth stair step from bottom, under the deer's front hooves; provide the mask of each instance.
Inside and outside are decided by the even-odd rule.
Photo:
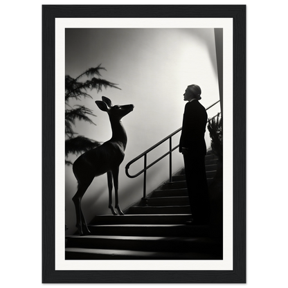
[[[98,215],[90,224],[183,224],[191,214]]]

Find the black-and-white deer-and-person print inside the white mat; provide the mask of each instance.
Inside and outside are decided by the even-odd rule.
[[[223,258],[222,35],[66,28],[66,259]]]

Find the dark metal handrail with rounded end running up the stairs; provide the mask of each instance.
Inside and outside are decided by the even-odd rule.
[[[213,107],[214,105],[216,105],[220,100],[218,100],[217,102],[215,102],[213,105],[210,105],[209,107],[206,108],[206,111],[208,109],[210,109],[211,107]],[[127,177],[129,178],[136,178],[138,177],[140,174],[144,173],[144,181],[143,181],[143,198],[146,197],[146,172],[147,170],[152,167],[154,164],[156,164],[157,162],[159,162],[161,159],[163,159],[165,156],[169,155],[169,179],[170,182],[172,182],[172,152],[174,150],[176,150],[179,145],[175,146],[174,148],[172,148],[172,136],[174,136],[175,134],[177,134],[178,132],[180,132],[182,129],[179,128],[176,131],[174,131],[172,134],[170,134],[169,136],[163,138],[161,141],[159,141],[158,143],[156,143],[155,145],[153,145],[152,147],[150,147],[148,150],[146,150],[145,152],[143,152],[142,154],[140,154],[139,156],[137,156],[136,158],[134,158],[132,161],[130,161],[129,163],[127,163],[127,165],[125,166],[125,172]],[[156,147],[158,147],[159,145],[161,145],[162,143],[164,143],[165,141],[168,141],[169,139],[169,151],[165,154],[163,154],[163,156],[159,157],[159,159],[155,160],[154,162],[152,162],[150,165],[147,165],[147,154],[149,152],[151,152],[152,150],[154,150]],[[130,168],[130,165],[132,165],[133,163],[135,163],[136,161],[138,161],[139,159],[141,159],[142,157],[144,157],[144,168],[143,170],[141,170],[140,172],[138,172],[137,174],[134,175],[130,175],[128,172],[128,169]]]

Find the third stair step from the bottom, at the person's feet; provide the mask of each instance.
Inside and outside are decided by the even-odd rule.
[[[123,235],[123,236],[207,236],[207,225],[187,226],[185,224],[116,224],[89,225],[91,235]]]

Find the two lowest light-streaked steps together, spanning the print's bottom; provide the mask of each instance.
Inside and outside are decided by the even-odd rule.
[[[209,237],[69,236],[66,260],[221,260]]]

